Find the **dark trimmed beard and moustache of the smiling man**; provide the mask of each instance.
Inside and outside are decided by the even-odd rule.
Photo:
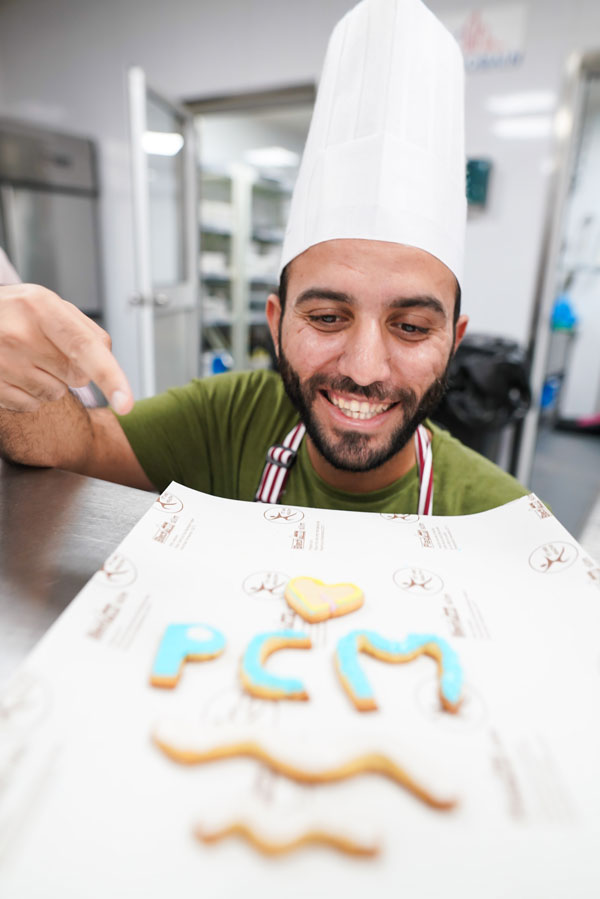
[[[431,415],[448,388],[448,371],[452,354],[442,375],[430,384],[419,401],[411,388],[389,391],[379,381],[361,387],[355,384],[352,378],[343,376],[330,378],[316,374],[302,384],[298,373],[292,368],[281,349],[281,340],[279,346],[278,368],[285,392],[300,413],[307,434],[316,449],[330,465],[340,471],[372,471],[395,456],[406,446],[421,422]],[[338,428],[335,430],[337,439],[331,439],[325,434],[312,410],[320,390],[351,393],[355,397],[364,397],[365,400],[375,400],[379,403],[397,403],[403,408],[403,421],[390,435],[386,445],[379,448],[371,448],[370,434],[354,430],[344,431]]]

